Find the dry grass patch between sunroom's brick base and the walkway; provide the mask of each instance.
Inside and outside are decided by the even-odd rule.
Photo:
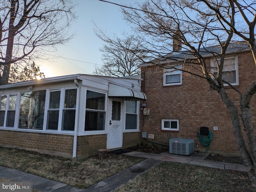
[[[142,160],[144,159],[108,154],[108,158],[104,160],[92,157],[73,161],[34,151],[0,146],[0,166],[36,174],[81,189],[88,188]]]

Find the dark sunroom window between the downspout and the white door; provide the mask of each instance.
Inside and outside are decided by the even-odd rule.
[[[106,94],[86,91],[86,113],[84,131],[105,130],[105,100]]]

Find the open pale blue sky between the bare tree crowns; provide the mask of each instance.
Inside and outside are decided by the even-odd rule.
[[[137,0],[108,0],[117,4],[134,4]],[[138,0],[140,1],[140,0]],[[94,34],[94,23],[98,28],[106,30],[109,35],[129,31],[130,26],[123,19],[120,7],[99,0],[76,0],[75,12],[77,20],[72,23],[69,33],[76,36],[66,45],[57,47],[57,51],[46,52],[46,56],[58,57],[51,61],[40,60],[36,64],[46,77],[57,77],[72,74],[92,74],[95,64],[102,65],[104,45]],[[52,56],[54,55],[54,56]]]

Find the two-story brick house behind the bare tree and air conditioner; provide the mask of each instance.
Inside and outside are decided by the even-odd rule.
[[[210,52],[218,52],[220,48],[212,46],[200,51],[214,73],[216,59]],[[186,51],[167,56],[170,59],[163,59],[161,64],[176,65],[176,68],[182,67],[177,65],[177,59],[193,59]],[[224,63],[225,80],[244,93],[256,77],[255,63],[248,44],[230,44]],[[218,93],[210,88],[205,79],[174,69],[163,69],[151,63],[142,63],[138,67],[144,79],[141,90],[147,95],[147,100],[141,105],[149,111],[147,115],[140,115],[142,137],[144,134],[147,140],[164,145],[168,145],[170,139],[174,138],[194,139],[195,151],[204,152],[207,148],[201,145],[198,133],[200,127],[208,127],[213,135],[209,152],[238,154],[228,110]],[[238,93],[228,85],[225,87],[239,109]],[[250,107],[252,121],[256,123],[255,96]]]

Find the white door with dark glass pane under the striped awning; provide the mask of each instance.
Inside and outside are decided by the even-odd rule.
[[[110,99],[108,127],[108,149],[122,147],[122,99]]]

